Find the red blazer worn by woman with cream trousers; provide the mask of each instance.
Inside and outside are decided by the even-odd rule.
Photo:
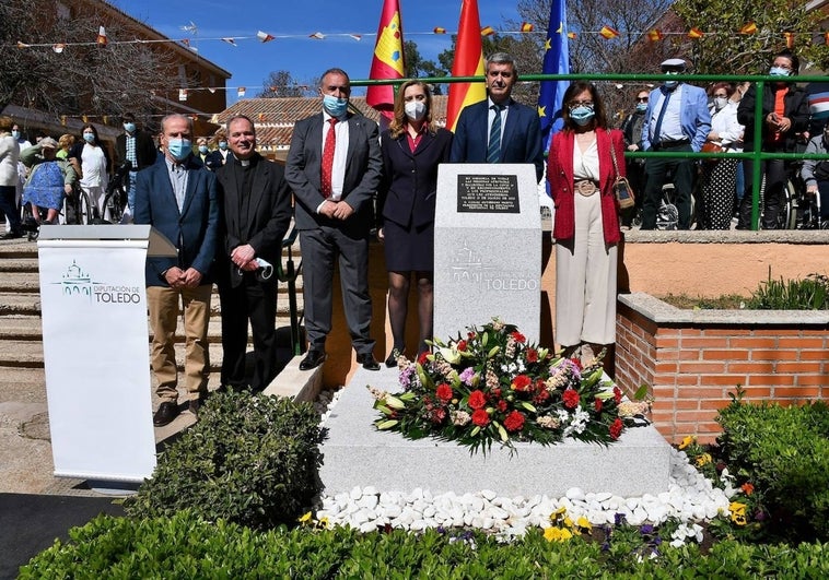
[[[610,144],[616,147],[619,175],[624,175],[624,140],[621,131],[596,129],[598,147],[599,189],[602,194],[602,223],[606,244],[618,244],[621,239],[619,229],[619,208],[614,194],[616,171],[610,158]],[[573,146],[575,133],[559,131],[552,137],[550,157],[547,162],[547,179],[556,206],[552,237],[571,239],[575,235],[575,200],[573,198]],[[594,193],[595,194],[595,193]]]

